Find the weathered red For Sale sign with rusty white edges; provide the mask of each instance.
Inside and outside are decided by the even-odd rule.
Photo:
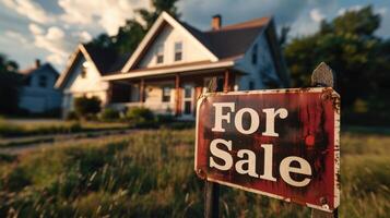
[[[339,132],[332,88],[205,94],[197,108],[196,172],[332,211],[340,202]]]

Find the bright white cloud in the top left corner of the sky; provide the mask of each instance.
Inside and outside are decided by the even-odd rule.
[[[31,0],[1,0],[3,4],[19,14],[37,23],[50,23],[54,17],[48,14],[38,3]]]

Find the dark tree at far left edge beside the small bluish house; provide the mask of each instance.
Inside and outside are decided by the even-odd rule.
[[[21,75],[17,63],[0,53],[0,113],[16,113]]]

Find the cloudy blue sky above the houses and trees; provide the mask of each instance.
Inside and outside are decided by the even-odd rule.
[[[276,27],[291,26],[289,37],[315,33],[322,20],[370,4],[381,15],[376,35],[390,37],[390,0],[179,0],[180,20],[209,29],[211,17],[222,25],[273,16]],[[0,53],[20,69],[36,59],[63,71],[79,43],[101,33],[115,35],[150,0],[0,0]]]

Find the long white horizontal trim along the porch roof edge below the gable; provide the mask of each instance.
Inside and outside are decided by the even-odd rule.
[[[149,71],[143,71],[143,72],[129,72],[129,73],[119,73],[115,75],[106,75],[106,76],[102,76],[102,80],[115,81],[115,80],[122,80],[122,78],[164,75],[164,74],[172,74],[172,73],[178,73],[185,71],[199,71],[204,69],[227,68],[233,65],[234,65],[234,61],[225,61],[225,62],[205,63],[201,65],[179,66],[174,69],[156,69],[156,70],[151,69]]]

